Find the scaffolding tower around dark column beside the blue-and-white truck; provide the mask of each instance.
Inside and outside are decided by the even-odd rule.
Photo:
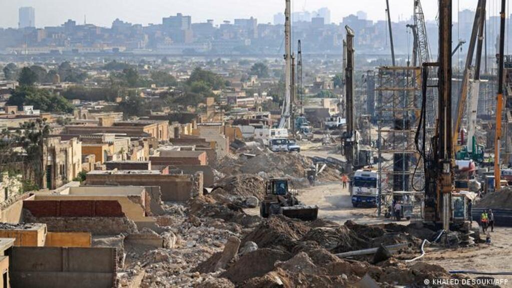
[[[379,190],[386,194],[422,189],[423,165],[415,146],[421,69],[380,67],[376,73]]]

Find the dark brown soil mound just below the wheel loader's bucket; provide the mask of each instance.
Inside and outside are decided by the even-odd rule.
[[[291,251],[296,241],[301,239],[309,229],[302,221],[284,216],[272,216],[245,236],[242,245],[247,241],[253,241],[260,248]]]

